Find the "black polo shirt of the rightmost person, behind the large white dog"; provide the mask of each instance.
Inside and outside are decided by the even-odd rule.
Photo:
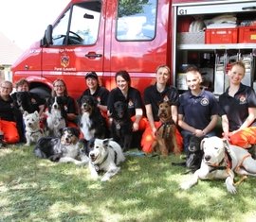
[[[227,114],[229,119],[229,131],[240,128],[248,116],[248,108],[256,108],[256,94],[251,87],[240,84],[240,88],[234,97],[229,95],[229,88],[219,97],[220,115]],[[251,124],[256,126],[256,120]]]

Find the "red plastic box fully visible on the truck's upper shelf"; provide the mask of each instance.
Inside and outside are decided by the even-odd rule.
[[[237,43],[238,28],[210,28],[206,29],[206,43]]]

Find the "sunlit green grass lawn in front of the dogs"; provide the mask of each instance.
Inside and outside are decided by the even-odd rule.
[[[34,157],[32,147],[0,150],[0,221],[255,221],[256,179],[230,195],[223,180],[188,179],[179,158],[127,157],[108,182],[86,167]]]

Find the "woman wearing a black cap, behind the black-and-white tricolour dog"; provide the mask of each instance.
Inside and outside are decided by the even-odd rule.
[[[85,75],[85,81],[88,89],[86,89],[80,98],[78,99],[78,103],[81,104],[83,95],[91,95],[94,96],[98,101],[98,107],[101,110],[101,113],[104,117],[107,117],[107,100],[109,91],[100,86],[99,77],[96,72],[89,72]]]

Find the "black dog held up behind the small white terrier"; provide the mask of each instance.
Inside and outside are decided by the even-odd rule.
[[[31,95],[29,92],[16,92],[13,94],[13,99],[15,101],[15,106],[24,113],[27,111],[28,113],[32,113],[34,108],[31,103]]]

